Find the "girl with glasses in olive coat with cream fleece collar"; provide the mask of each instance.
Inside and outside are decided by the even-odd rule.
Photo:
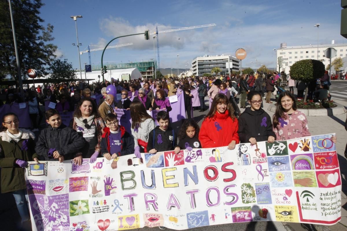
[[[18,116],[7,113],[2,117],[0,132],[1,193],[12,193],[22,222],[29,221],[28,194],[24,180],[27,161],[38,162],[34,133],[19,129]]]

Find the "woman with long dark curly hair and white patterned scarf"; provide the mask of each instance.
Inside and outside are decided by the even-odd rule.
[[[78,102],[70,127],[87,141],[82,156],[90,158],[90,162],[94,163],[101,151],[101,136],[105,123],[92,98],[83,98]]]

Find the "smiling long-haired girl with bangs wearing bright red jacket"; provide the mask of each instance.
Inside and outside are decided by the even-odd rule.
[[[234,115],[229,99],[224,94],[217,94],[212,101],[210,112],[202,122],[199,140],[203,148],[228,146],[235,148],[240,142],[238,136],[238,121]]]

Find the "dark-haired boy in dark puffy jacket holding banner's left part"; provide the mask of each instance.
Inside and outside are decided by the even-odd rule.
[[[36,153],[44,160],[58,159],[62,162],[64,159],[74,159],[76,165],[81,165],[80,150],[85,145],[83,137],[61,123],[60,114],[56,109],[47,110],[45,117],[50,126],[41,131],[39,140],[36,142]]]

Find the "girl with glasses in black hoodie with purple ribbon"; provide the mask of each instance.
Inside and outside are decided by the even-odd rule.
[[[247,107],[238,118],[240,143],[273,143],[276,135],[272,131],[271,117],[261,108],[262,98],[259,91],[250,91],[247,100],[251,107]]]

